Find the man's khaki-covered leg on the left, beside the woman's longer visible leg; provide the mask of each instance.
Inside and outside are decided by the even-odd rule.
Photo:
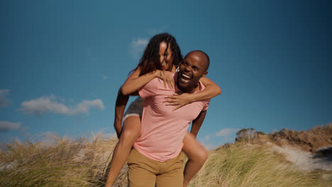
[[[129,187],[155,187],[157,161],[133,149],[127,163]]]

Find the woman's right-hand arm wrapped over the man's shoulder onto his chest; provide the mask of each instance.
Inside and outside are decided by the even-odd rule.
[[[211,81],[211,79],[207,77],[201,77],[199,79],[202,84],[204,84],[205,89],[202,91],[199,91],[195,94],[187,94],[183,93],[180,95],[175,94],[174,96],[167,96],[165,97],[165,103],[167,106],[176,106],[173,111],[177,110],[177,108],[180,108],[182,106],[187,105],[188,103],[192,103],[194,101],[201,101],[209,98],[214,98],[215,96],[218,96],[221,94],[220,87],[214,83],[214,81]]]

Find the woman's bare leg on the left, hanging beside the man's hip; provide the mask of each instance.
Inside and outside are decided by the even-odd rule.
[[[116,147],[114,148],[113,157],[109,168],[109,176],[105,187],[111,187],[118,177],[124,164],[131,153],[131,147],[140,135],[140,117],[131,115],[123,122],[122,133]]]

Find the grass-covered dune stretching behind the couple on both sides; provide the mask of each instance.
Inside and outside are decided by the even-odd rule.
[[[101,135],[78,140],[51,136],[43,142],[3,144],[0,186],[103,186],[116,141]],[[127,186],[126,169],[115,186]],[[303,171],[272,145],[241,141],[211,150],[189,186],[332,186],[332,172]]]

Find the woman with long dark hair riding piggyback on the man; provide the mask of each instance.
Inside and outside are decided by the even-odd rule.
[[[121,128],[121,120],[128,102],[128,95],[135,94],[138,89],[155,78],[163,79],[164,86],[174,88],[175,81],[172,72],[175,72],[179,62],[182,62],[182,55],[175,38],[167,33],[155,35],[145,48],[138,67],[136,67],[119,90],[114,118],[114,128],[119,140],[114,149],[106,186],[113,185],[118,173],[129,157],[133,143],[140,135],[140,118],[144,102],[142,98],[137,98],[131,103],[123,117],[123,128]],[[205,77],[201,78],[200,81],[206,86],[203,91],[199,91],[197,94],[168,96],[165,98],[165,104],[176,106],[176,110],[187,103],[212,98],[221,94],[220,88],[213,81]],[[184,169],[184,186],[187,186],[207,158],[206,149],[195,140],[197,132],[194,135],[187,132],[183,140],[184,147],[182,149],[189,158]]]

